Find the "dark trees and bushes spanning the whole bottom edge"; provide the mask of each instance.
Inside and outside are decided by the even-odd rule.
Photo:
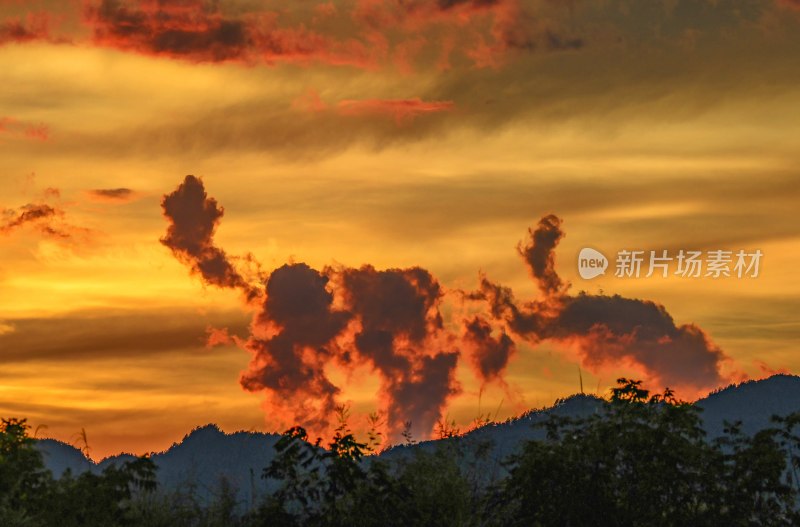
[[[146,457],[54,479],[26,422],[4,419],[0,526],[800,525],[800,414],[773,422],[709,441],[696,407],[620,379],[597,414],[551,415],[547,439],[503,460],[494,482],[476,469],[487,445],[465,438],[378,458],[346,421],[325,449],[293,428],[264,469],[279,490],[245,506],[224,482],[202,505],[159,489]]]

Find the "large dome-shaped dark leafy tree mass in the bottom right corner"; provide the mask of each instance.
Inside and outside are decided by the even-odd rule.
[[[697,407],[620,379],[600,414],[551,415],[490,500],[499,525],[796,525],[777,430],[705,438]],[[796,442],[794,444],[797,444]]]

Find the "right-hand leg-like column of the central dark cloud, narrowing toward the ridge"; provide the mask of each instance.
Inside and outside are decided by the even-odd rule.
[[[340,279],[345,303],[361,322],[358,354],[381,375],[390,432],[397,437],[410,422],[415,435],[426,436],[459,391],[458,351],[435,341],[443,332],[439,283],[419,267],[343,269]]]

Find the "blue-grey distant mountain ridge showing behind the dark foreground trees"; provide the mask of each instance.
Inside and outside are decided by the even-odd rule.
[[[550,414],[585,417],[599,411],[602,401],[591,395],[573,395],[543,410],[530,411],[503,423],[493,423],[463,436],[466,449],[481,445],[489,455],[480,461],[473,460],[473,470],[488,482],[503,476],[499,461],[512,454],[523,441],[541,439],[544,430],[534,427],[544,422]],[[800,377],[775,375],[760,381],[748,381],[713,392],[695,403],[709,438],[722,434],[725,421],[742,421],[742,430],[754,434],[770,426],[772,415],[787,415],[800,411]],[[204,500],[219,492],[225,479],[237,492],[242,504],[255,503],[259,497],[273,490],[274,482],[261,478],[269,465],[280,438],[276,434],[236,432],[225,434],[216,425],[206,425],[192,430],[180,443],[164,452],[154,454],[158,466],[159,485],[167,490],[191,489],[198,499]],[[446,441],[446,440],[445,440]],[[432,449],[439,441],[425,441],[413,446],[398,446],[380,455],[387,458],[408,455],[415,448]],[[69,469],[73,474],[90,470],[100,472],[109,464],[132,459],[130,454],[106,458],[95,464],[69,444],[53,439],[38,441],[44,461],[54,475],[60,477]],[[470,463],[469,459],[465,463]]]

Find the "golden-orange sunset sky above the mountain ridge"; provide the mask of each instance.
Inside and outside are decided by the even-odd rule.
[[[282,431],[297,416],[285,379],[270,384],[275,335],[356,426],[400,408],[390,436],[408,390],[438,394],[413,412],[466,427],[579,391],[579,370],[589,393],[626,375],[686,399],[800,372],[797,0],[0,0],[0,13],[0,415],[39,436],[85,429],[100,459],[209,422]],[[222,209],[211,230],[190,224]],[[578,275],[584,247],[612,260],[604,276]],[[763,257],[755,278],[614,276],[618,251],[682,249]],[[208,251],[237,280],[199,271]],[[264,292],[285,264],[325,277],[318,342],[303,339],[322,322],[293,311],[305,318],[290,330]],[[413,268],[414,288],[440,287],[419,338],[389,329],[399,301],[374,285]],[[658,328],[630,321],[640,309]],[[370,324],[413,383],[354,351]],[[492,375],[478,348],[500,361]],[[422,372],[438,359],[452,364],[434,386]]]

